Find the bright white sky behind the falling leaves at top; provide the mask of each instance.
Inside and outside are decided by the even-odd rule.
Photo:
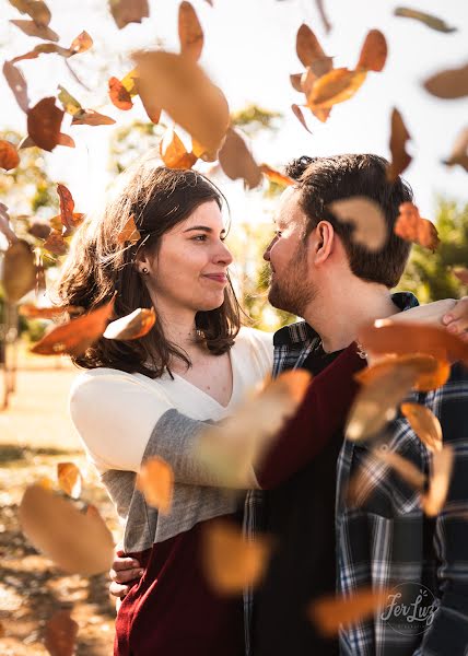
[[[105,0],[47,0],[52,12],[50,26],[68,46],[86,30],[95,42],[93,52],[70,60],[71,67],[91,87],[86,92],[68,72],[56,55],[43,55],[20,63],[30,85],[32,104],[55,95],[62,84],[85,107],[98,109],[117,119],[118,126],[132,118],[144,118],[140,107],[119,112],[107,103],[106,84],[98,86],[100,67],[107,62],[109,74],[125,74],[131,68],[126,54],[151,47],[161,39],[164,47],[177,50],[177,8],[175,0],[150,0],[151,16],[142,24],[118,31]],[[432,12],[458,27],[442,34],[425,25],[393,15],[399,4],[391,0],[325,0],[334,26],[326,36],[314,0],[192,0],[206,36],[201,65],[223,89],[232,109],[256,103],[279,110],[285,118],[277,134],[255,140],[259,162],[281,166],[301,154],[325,155],[342,152],[375,152],[389,155],[389,119],[394,106],[401,112],[412,136],[409,150],[413,162],[406,177],[413,186],[422,215],[433,218],[437,194],[468,202],[467,174],[460,167],[446,168],[441,160],[448,156],[457,133],[468,124],[468,101],[441,101],[421,86],[426,77],[445,68],[458,67],[468,58],[468,4],[465,0],[411,0],[409,7]],[[23,35],[8,23],[20,16],[7,0],[0,0],[0,46],[4,58],[31,49],[38,39]],[[313,134],[308,134],[292,115],[292,103],[301,95],[290,85],[289,74],[302,70],[295,55],[295,35],[306,22],[324,49],[335,56],[335,66],[355,66],[368,30],[378,27],[389,45],[389,58],[382,73],[370,73],[356,96],[337,105],[327,124],[306,112]],[[91,74],[90,74],[91,72]],[[15,128],[25,133],[25,116],[0,79],[0,129]],[[57,148],[46,155],[50,175],[68,184],[77,210],[86,211],[102,196],[108,181],[108,137],[113,127],[68,127],[77,149]],[[220,179],[230,200],[233,218],[254,219],[262,212],[261,195],[246,196],[241,183]]]

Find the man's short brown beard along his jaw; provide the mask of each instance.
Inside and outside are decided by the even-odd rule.
[[[300,245],[281,280],[277,276],[270,280],[268,301],[278,309],[303,317],[305,308],[316,296],[316,290],[307,278],[307,250]]]

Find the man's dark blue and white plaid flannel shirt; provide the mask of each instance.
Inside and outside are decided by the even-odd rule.
[[[410,293],[394,294],[401,309],[418,305]],[[284,339],[284,336],[288,339]],[[281,338],[279,338],[281,336]],[[301,367],[320,343],[305,321],[281,329],[274,339],[273,376]],[[397,633],[381,614],[353,624],[340,634],[340,652],[347,656],[409,656],[468,654],[468,373],[452,367],[442,388],[411,395],[409,400],[429,407],[440,419],[444,442],[455,448],[455,468],[444,511],[434,519],[422,514],[419,496],[388,467],[373,465],[365,503],[347,507],[350,478],[365,462],[366,445],[346,441],[338,460],[337,478],[337,567],[338,590],[350,595],[368,585],[383,589],[401,583],[423,584],[436,597],[440,608],[424,635]],[[429,472],[431,458],[401,417],[388,425],[387,447],[411,459]],[[264,530],[262,492],[247,494],[244,531],[255,540]],[[465,516],[464,516],[465,514]],[[244,596],[246,654],[251,655],[250,629],[253,590]],[[448,649],[448,651],[447,651]]]

